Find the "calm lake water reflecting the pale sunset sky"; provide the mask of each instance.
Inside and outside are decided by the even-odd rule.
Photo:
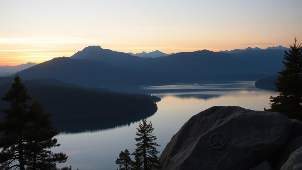
[[[263,107],[269,107],[269,97],[277,95],[277,92],[255,88],[254,83],[255,81],[199,82],[135,88],[162,99],[157,103],[157,112],[147,118],[147,121],[153,123],[156,142],[161,145],[157,149],[162,152],[172,136],[191,116],[209,107],[235,105],[261,111]],[[53,151],[66,153],[68,160],[58,164],[58,167],[72,165],[73,169],[79,170],[117,169],[115,160],[120,151],[128,149],[132,153],[135,149],[134,137],[138,124],[139,122],[134,122],[94,132],[83,130],[82,133],[60,133],[56,138],[61,146]]]

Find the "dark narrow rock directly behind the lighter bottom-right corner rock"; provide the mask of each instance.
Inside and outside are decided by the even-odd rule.
[[[281,166],[288,160],[289,156],[297,149],[302,147],[302,136],[297,137],[296,139],[287,143],[280,155],[278,164],[274,169],[280,169]]]

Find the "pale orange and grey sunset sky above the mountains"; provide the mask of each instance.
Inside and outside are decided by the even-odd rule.
[[[89,45],[164,53],[302,42],[301,0],[0,0],[0,66]]]

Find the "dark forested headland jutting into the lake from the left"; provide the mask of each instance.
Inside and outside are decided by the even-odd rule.
[[[28,94],[32,97],[30,102],[37,99],[42,103],[45,111],[53,113],[52,119],[60,131],[98,130],[139,121],[153,115],[157,110],[154,102],[160,100],[151,95],[42,84],[49,81],[54,82],[53,80],[23,82],[28,88]],[[11,78],[0,78],[1,97],[10,89],[11,82]],[[58,82],[61,85],[70,86],[64,82]],[[8,102],[0,101],[0,108],[8,107]],[[4,116],[5,114],[0,112],[0,121]]]

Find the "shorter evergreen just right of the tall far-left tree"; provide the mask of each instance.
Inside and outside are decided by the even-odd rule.
[[[27,168],[31,170],[53,169],[56,168],[56,162],[66,162],[68,158],[66,154],[47,150],[60,146],[53,138],[58,134],[58,130],[52,126],[51,114],[44,113],[42,105],[37,100],[29,106],[28,113],[31,123],[24,134],[27,140],[24,147],[27,153]]]

